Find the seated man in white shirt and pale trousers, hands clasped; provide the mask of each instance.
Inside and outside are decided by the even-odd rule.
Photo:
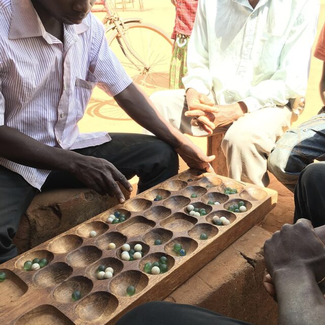
[[[153,103],[183,133],[226,132],[229,177],[267,186],[267,157],[294,114],[287,104],[306,92],[318,10],[315,0],[201,0],[186,92],[157,92]]]

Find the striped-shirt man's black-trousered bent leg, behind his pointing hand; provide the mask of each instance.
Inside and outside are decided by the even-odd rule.
[[[110,136],[110,142],[74,151],[110,161],[127,179],[139,176],[139,192],[178,173],[176,151],[156,137],[127,133],[113,133]],[[83,186],[71,174],[51,172],[42,189]]]

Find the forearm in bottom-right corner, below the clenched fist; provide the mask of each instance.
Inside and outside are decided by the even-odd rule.
[[[308,270],[280,270],[273,275],[279,305],[279,325],[321,325],[325,300]]]

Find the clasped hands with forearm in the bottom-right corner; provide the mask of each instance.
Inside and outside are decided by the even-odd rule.
[[[279,304],[280,325],[320,325],[325,300],[320,283],[325,277],[325,228],[309,220],[285,224],[264,245],[268,275],[265,287]]]

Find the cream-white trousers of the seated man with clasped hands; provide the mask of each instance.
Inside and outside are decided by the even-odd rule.
[[[158,91],[151,95],[155,107],[174,127],[194,136],[208,136],[198,127],[191,127],[190,118],[182,118],[184,89]],[[224,133],[221,143],[226,157],[228,176],[235,180],[268,186],[267,158],[276,141],[290,127],[293,112],[287,106],[266,107],[247,113],[229,128],[216,128]],[[145,134],[150,134],[144,131]]]

